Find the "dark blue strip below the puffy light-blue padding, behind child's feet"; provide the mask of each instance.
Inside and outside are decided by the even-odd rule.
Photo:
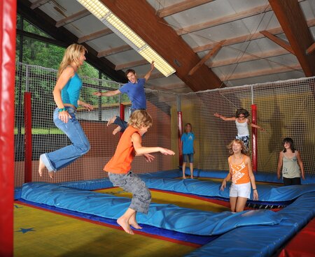
[[[41,203],[34,203],[34,202],[29,202],[27,200],[23,200],[20,199],[20,202],[22,203],[27,203],[28,205],[34,205],[36,207],[41,207],[45,210],[52,210],[54,212],[59,212],[62,214],[68,214],[71,216],[77,216],[83,219],[89,219],[91,221],[98,221],[101,223],[106,223],[112,226],[119,226],[118,223],[116,222],[116,219],[106,219],[104,217],[101,216],[96,216],[96,215],[92,215],[92,214],[85,214],[82,212],[74,212],[71,210],[65,210],[65,209],[61,209],[55,206],[50,206],[50,205],[44,205]],[[167,237],[167,238],[172,238],[174,240],[180,240],[183,242],[190,242],[193,244],[207,244],[209,242],[211,242],[212,240],[215,240],[216,238],[218,238],[217,235],[211,235],[211,236],[204,236],[204,235],[190,235],[190,234],[186,234],[186,233],[179,233],[176,231],[172,231],[172,230],[167,230],[167,229],[163,229],[163,228],[157,228],[155,226],[148,226],[148,225],[144,225],[141,224],[142,229],[139,230],[141,232],[144,233],[149,233],[151,235],[159,235],[162,237]],[[137,230],[136,228],[132,228],[134,230]]]

